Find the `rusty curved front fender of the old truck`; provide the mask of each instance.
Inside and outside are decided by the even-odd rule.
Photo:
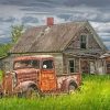
[[[20,82],[20,85],[18,85],[14,88],[14,94],[16,94],[16,92],[25,92],[29,87],[36,87],[37,88],[37,85],[34,81],[23,81],[23,82]]]

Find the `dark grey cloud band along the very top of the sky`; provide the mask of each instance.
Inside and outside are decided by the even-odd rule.
[[[88,7],[107,7],[110,6],[109,0],[0,0],[0,4],[13,4],[23,7],[37,7],[37,4],[55,4],[55,6],[88,6]]]

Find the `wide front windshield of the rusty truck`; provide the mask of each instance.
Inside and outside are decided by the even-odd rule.
[[[40,61],[18,61],[14,63],[14,69],[19,68],[40,68]]]

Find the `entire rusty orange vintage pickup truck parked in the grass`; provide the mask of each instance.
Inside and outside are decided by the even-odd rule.
[[[2,81],[3,95],[58,94],[69,92],[79,87],[81,77],[58,75],[54,57],[51,55],[20,56],[13,62],[13,70],[7,73]]]

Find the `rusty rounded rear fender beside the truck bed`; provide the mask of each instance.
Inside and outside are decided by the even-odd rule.
[[[65,90],[65,91],[68,91],[70,85],[74,85],[75,88],[78,87],[77,82],[76,82],[74,79],[68,78],[68,79],[64,80],[64,82],[63,82],[64,90]]]

